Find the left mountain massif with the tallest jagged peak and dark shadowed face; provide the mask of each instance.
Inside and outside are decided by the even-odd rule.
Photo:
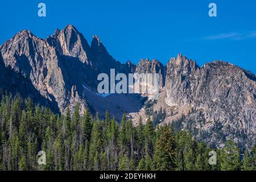
[[[115,61],[98,36],[93,36],[89,46],[71,25],[61,31],[57,29],[46,40],[30,31],[20,31],[4,43],[0,51],[5,67],[30,80],[40,95],[54,102],[61,113],[68,106],[72,109],[77,101],[81,112],[85,108],[92,109],[90,105],[94,103],[88,103],[85,95],[97,91],[98,74],[109,75],[110,69],[127,74],[135,69],[130,61],[126,64]]]

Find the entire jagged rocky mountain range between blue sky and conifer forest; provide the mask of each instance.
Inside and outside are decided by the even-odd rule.
[[[148,59],[138,65],[122,64],[98,36],[89,45],[71,25],[45,40],[20,31],[0,51],[0,87],[56,113],[64,114],[68,107],[72,112],[79,102],[80,113],[89,109],[101,118],[109,110],[118,121],[126,113],[135,125],[140,116],[151,117],[155,125],[174,123],[176,130],[185,129],[211,147],[222,148],[229,139],[242,147],[255,144],[256,76],[230,63],[214,61],[199,67],[179,54],[166,66]],[[147,94],[98,94],[97,76],[109,75],[110,69],[159,73],[159,97],[150,101]]]

